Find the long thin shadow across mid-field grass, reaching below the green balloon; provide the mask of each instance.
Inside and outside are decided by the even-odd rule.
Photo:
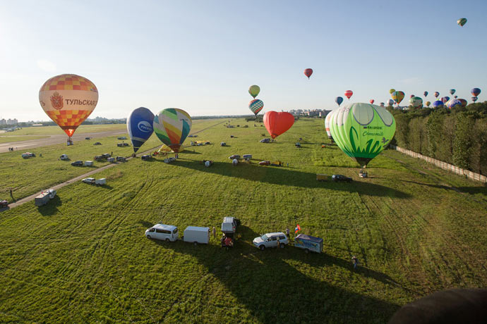
[[[285,164],[285,161],[284,161]],[[370,182],[353,181],[345,182],[318,182],[315,173],[307,173],[299,170],[291,170],[286,166],[259,166],[258,164],[239,163],[232,166],[232,163],[215,162],[211,168],[205,168],[200,161],[186,160],[179,158],[174,166],[191,168],[205,173],[225,175],[227,177],[239,177],[246,180],[267,182],[272,185],[287,185],[304,188],[323,188],[345,192],[358,192],[368,196],[408,198],[409,194],[397,189],[376,185]]]

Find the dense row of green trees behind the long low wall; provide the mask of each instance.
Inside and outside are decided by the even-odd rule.
[[[487,101],[451,110],[388,109],[397,123],[392,144],[487,175]]]

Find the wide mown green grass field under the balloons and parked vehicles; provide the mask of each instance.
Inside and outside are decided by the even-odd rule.
[[[431,292],[487,286],[487,187],[397,151],[380,154],[361,179],[337,147],[321,149],[323,120],[301,119],[270,144],[258,142],[267,133],[261,124],[232,124],[249,127],[208,128],[197,139],[213,144],[172,164],[133,159],[97,175],[107,186],[74,183],[47,206],[0,213],[0,322],[385,323]],[[67,148],[72,159],[111,151],[83,145]],[[54,182],[61,149],[45,149],[42,176],[20,156],[2,172],[25,177],[24,186]],[[232,166],[232,154],[253,154],[253,163]],[[4,158],[13,157],[0,154],[0,166]],[[203,158],[215,164],[204,168]],[[257,165],[275,159],[289,166]],[[316,173],[354,182],[317,182]],[[224,216],[242,222],[231,251],[217,239],[193,246],[143,236],[155,223],[177,225],[180,236],[188,225],[219,229]],[[324,254],[251,244],[296,223],[323,237]]]

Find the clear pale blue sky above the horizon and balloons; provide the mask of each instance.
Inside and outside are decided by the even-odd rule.
[[[251,114],[251,85],[263,112],[332,109],[348,89],[380,103],[390,88],[433,101],[479,87],[484,101],[486,13],[485,0],[0,1],[0,118],[49,120],[39,89],[64,73],[97,86],[90,118]]]

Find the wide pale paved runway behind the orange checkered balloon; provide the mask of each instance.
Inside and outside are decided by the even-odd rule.
[[[85,137],[107,137],[113,135],[125,134],[126,130],[109,130],[107,132],[92,132],[86,134],[73,135],[73,142],[84,141]],[[13,136],[13,135],[12,135]],[[18,136],[28,136],[28,135],[18,135]],[[13,147],[16,151],[25,151],[27,149],[34,149],[37,147],[47,147],[48,145],[54,144],[66,144],[66,135],[32,135],[32,136],[49,136],[48,138],[41,139],[28,139],[26,141],[19,142],[7,142],[0,143],[0,153],[8,152],[9,147]]]

